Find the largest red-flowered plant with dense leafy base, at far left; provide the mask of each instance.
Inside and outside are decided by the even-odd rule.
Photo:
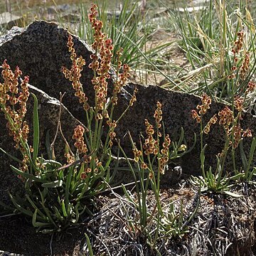
[[[92,63],[89,67],[94,74],[92,78],[92,86],[95,90],[94,106],[88,104],[87,95],[80,82],[82,68],[86,65],[85,60],[82,56],[77,57],[73,37],[68,36],[67,46],[72,65],[70,69],[63,67],[62,71],[65,78],[72,82],[75,97],[78,97],[85,110],[85,122],[75,127],[73,132],[76,152],[71,150],[71,146],[64,138],[66,164],[60,163],[54,154],[50,155],[50,159],[38,156],[39,121],[38,102],[35,95],[33,95],[33,147],[28,145],[29,128],[24,121],[26,101],[29,96],[28,77],[23,79],[18,88],[21,71],[16,68],[13,73],[6,61],[2,67],[4,83],[0,84],[1,111],[4,112],[8,121],[7,126],[16,142],[16,149],[20,149],[23,156],[23,160],[19,161],[20,166],[18,168],[11,166],[11,169],[24,182],[25,197],[20,198],[10,194],[11,201],[19,212],[31,217],[33,225],[42,233],[63,231],[70,225],[78,223],[82,213],[91,213],[94,196],[105,191],[112,178],[110,163],[112,144],[116,137],[114,129],[123,116],[122,114],[114,120],[113,110],[117,105],[117,95],[129,78],[129,66],[122,66],[118,61],[114,92],[112,96],[108,96],[113,46],[111,39],[106,38],[101,32],[103,24],[97,21],[96,15],[97,6],[92,4],[89,18],[95,30],[95,43],[92,45],[95,53],[90,56]],[[121,54],[120,50],[119,55]],[[119,72],[121,67],[122,73]],[[136,100],[136,91],[130,105]],[[16,106],[19,108],[16,109]],[[104,129],[107,131],[107,138],[102,140]],[[61,130],[60,133],[62,133]]]

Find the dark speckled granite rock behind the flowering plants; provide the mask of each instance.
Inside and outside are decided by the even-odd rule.
[[[7,59],[12,68],[18,65],[23,71],[23,74],[30,76],[31,84],[50,97],[58,99],[60,92],[66,92],[63,105],[67,107],[68,111],[76,119],[83,122],[84,112],[82,106],[73,96],[73,88],[70,82],[65,80],[63,74],[60,72],[60,68],[63,65],[67,67],[71,65],[70,55],[66,46],[67,41],[68,31],[66,29],[61,28],[56,23],[34,21],[27,28],[13,28],[6,36],[0,38],[0,63],[4,59]],[[84,41],[81,41],[75,36],[74,43],[76,53],[82,55],[88,65],[91,54],[90,46],[87,46]],[[81,82],[89,100],[92,100],[94,99],[94,91],[90,82],[92,79],[92,70],[87,68],[87,65],[82,71]],[[153,122],[153,114],[157,101],[163,105],[162,110],[166,133],[171,134],[172,140],[176,140],[181,132],[181,127],[183,127],[184,142],[188,144],[189,149],[193,145],[193,134],[196,133],[199,135],[199,126],[191,118],[191,110],[195,109],[196,105],[201,103],[201,99],[194,95],[164,90],[157,86],[134,85],[133,83],[129,83],[119,95],[119,105],[114,113],[116,117],[119,117],[129,104],[129,99],[135,87],[139,89],[137,102],[117,126],[117,136],[121,139],[124,150],[130,151],[131,149],[129,139],[126,136],[128,130],[131,132],[134,140],[138,141],[139,134],[144,132],[144,119],[147,118]],[[46,106],[48,106],[47,104]],[[206,122],[222,108],[222,104],[213,102],[208,114],[206,114]],[[41,134],[43,136],[49,129],[48,125],[55,126],[56,124],[56,119],[50,117],[44,111],[47,112],[48,107],[46,107],[46,110],[41,110],[41,118],[43,119],[43,130]],[[65,118],[69,118],[69,116]],[[65,118],[63,116],[63,120]],[[256,132],[255,117],[245,113],[241,123],[242,127],[250,127],[252,133]],[[67,129],[70,129],[70,127],[67,127]],[[65,130],[64,127],[63,130]],[[6,142],[8,142],[6,137],[1,137],[0,146],[6,144]],[[215,165],[215,155],[222,150],[224,144],[223,131],[218,125],[215,125],[210,134],[205,137],[205,143],[208,144],[206,149],[206,164]],[[245,139],[245,151],[248,151],[249,146],[250,139]],[[239,154],[237,158],[238,160],[240,159]],[[196,147],[189,154],[186,154],[181,159],[181,162],[174,163],[174,165],[177,164],[182,166],[183,173],[185,174],[199,174],[199,143],[197,142]]]

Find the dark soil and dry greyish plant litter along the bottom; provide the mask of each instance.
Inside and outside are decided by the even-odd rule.
[[[242,184],[236,186],[235,193],[241,197],[212,193],[199,196],[198,188],[185,180],[172,188],[162,188],[162,205],[174,201],[179,213],[182,204],[185,221],[199,207],[187,223],[187,234],[157,242],[161,255],[255,255],[255,187]],[[154,208],[154,202],[154,195],[149,192],[149,209]],[[99,196],[97,206],[93,216],[82,216],[78,226],[53,237],[36,233],[22,215],[1,217],[1,250],[26,256],[89,255],[84,235],[87,233],[94,255],[156,255],[142,233],[131,232],[127,214],[137,217],[124,196],[112,191]]]

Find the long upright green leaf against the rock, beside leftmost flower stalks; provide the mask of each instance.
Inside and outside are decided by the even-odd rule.
[[[33,162],[36,163],[36,158],[38,156],[38,146],[39,146],[39,118],[38,118],[38,100],[36,95],[31,93],[34,99],[33,105]]]

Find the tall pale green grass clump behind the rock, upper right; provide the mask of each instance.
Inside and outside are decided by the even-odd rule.
[[[188,92],[207,92],[212,100],[230,104],[240,95],[245,99],[245,110],[255,108],[255,92],[245,95],[248,82],[255,82],[253,5],[210,0],[198,12],[184,8],[183,14],[178,10],[170,13],[169,21],[180,32],[180,46],[192,68],[181,78],[190,85]]]

